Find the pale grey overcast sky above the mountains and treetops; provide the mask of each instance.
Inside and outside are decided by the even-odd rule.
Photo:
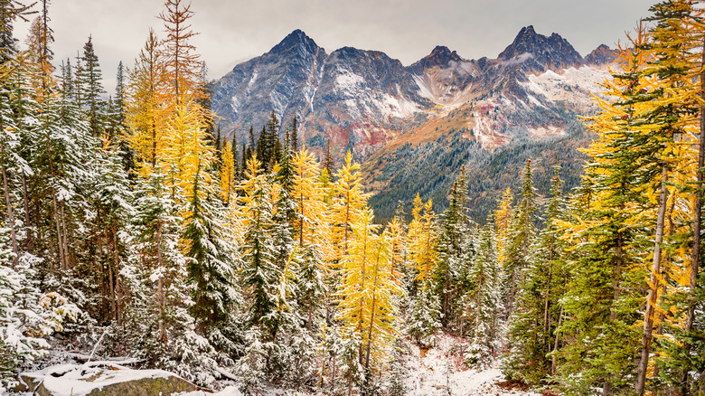
[[[28,3],[26,0],[25,3]],[[647,16],[655,0],[193,0],[193,39],[209,78],[219,79],[240,61],[268,52],[301,29],[330,53],[343,46],[386,52],[405,66],[436,45],[466,59],[495,58],[516,33],[559,33],[585,56],[601,43],[614,47]],[[88,40],[99,56],[108,93],[118,61],[130,67],[161,0],[53,0],[49,14],[56,42],[54,63],[74,58]],[[23,43],[25,24],[15,35]]]

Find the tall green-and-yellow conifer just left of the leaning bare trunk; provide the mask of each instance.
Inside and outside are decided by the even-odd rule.
[[[601,386],[604,394],[634,385],[634,355],[640,335],[638,297],[644,287],[645,236],[653,226],[653,203],[645,199],[640,168],[651,159],[648,133],[635,133],[634,95],[647,90],[644,67],[644,31],[637,30],[634,47],[622,52],[622,70],[606,80],[608,95],[620,100],[597,100],[601,108],[591,118],[598,138],[585,150],[584,183],[591,192],[589,208],[561,226],[569,243],[580,251],[569,257],[572,274],[566,287],[564,322],[560,333],[571,340],[559,353],[560,379],[578,391]],[[650,179],[650,177],[646,177]],[[587,190],[587,188],[585,188]],[[584,205],[578,197],[573,206]]]

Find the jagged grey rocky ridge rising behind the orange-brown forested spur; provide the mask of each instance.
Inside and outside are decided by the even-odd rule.
[[[362,159],[437,105],[456,106],[499,86],[521,99],[523,90],[512,85],[526,81],[527,72],[584,62],[559,34],[546,37],[532,26],[495,60],[468,61],[438,46],[408,67],[384,52],[343,47],[329,54],[296,30],[216,81],[213,106],[226,136],[245,137],[250,125],[258,130],[275,110],[287,122],[300,119],[309,146],[330,137],[338,156],[353,149]]]

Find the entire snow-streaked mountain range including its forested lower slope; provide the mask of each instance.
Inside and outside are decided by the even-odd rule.
[[[561,165],[564,191],[577,184],[587,146],[579,116],[595,105],[596,82],[616,52],[600,45],[585,58],[559,34],[522,28],[496,59],[465,60],[447,47],[404,67],[383,52],[343,47],[327,53],[300,30],[269,52],[240,63],[212,86],[223,136],[249,139],[271,112],[299,121],[301,145],[335,164],[348,150],[361,161],[377,221],[416,193],[437,210],[461,166],[468,172],[472,217],[484,218],[529,157],[548,193],[550,167]],[[245,139],[245,140],[243,140]]]

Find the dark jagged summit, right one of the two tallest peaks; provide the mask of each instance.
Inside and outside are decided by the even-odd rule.
[[[525,55],[527,53],[531,56]],[[546,37],[536,33],[532,25],[522,27],[514,42],[499,54],[498,59],[509,61],[522,55],[522,60],[532,59],[535,66],[547,69],[578,66],[583,62],[580,54],[559,33],[551,33],[550,37]]]

